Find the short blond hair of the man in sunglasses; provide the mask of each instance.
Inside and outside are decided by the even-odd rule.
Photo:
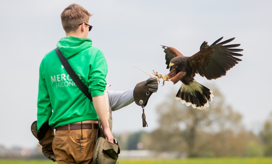
[[[66,33],[76,31],[80,23],[88,23],[92,16],[85,8],[78,4],[71,4],[61,13],[61,23]]]

